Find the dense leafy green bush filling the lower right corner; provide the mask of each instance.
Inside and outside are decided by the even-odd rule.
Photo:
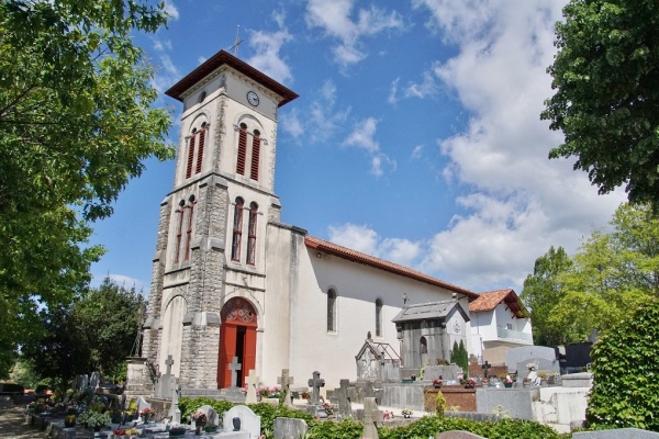
[[[593,346],[587,418],[592,425],[659,431],[659,302],[618,322]]]

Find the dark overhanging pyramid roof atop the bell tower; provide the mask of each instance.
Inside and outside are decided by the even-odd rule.
[[[169,90],[167,90],[165,94],[182,102],[183,99],[181,97],[188,89],[190,89],[197,82],[199,82],[200,80],[202,80],[203,78],[205,78],[206,76],[209,76],[210,74],[212,74],[217,68],[224,65],[232,67],[234,70],[239,71],[246,77],[260,83],[265,88],[272,90],[275,93],[279,94],[282,98],[281,102],[279,102],[279,106],[284,105],[293,99],[298,98],[298,93],[295,93],[294,91],[277,82],[275,79],[270,78],[264,72],[255,69],[247,63],[236,58],[226,50],[220,50],[215,55],[206,59],[205,63],[197,67],[183,79],[171,86],[171,88],[169,88]]]

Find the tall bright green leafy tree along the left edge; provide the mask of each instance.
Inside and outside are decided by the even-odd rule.
[[[170,117],[131,34],[155,32],[148,0],[0,3],[0,376],[44,313],[89,282],[109,216],[148,157],[169,159]]]

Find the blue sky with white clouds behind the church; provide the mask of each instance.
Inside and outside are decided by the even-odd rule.
[[[623,191],[601,196],[539,120],[563,1],[167,0],[137,35],[164,92],[220,49],[298,94],[280,109],[282,221],[476,292],[517,293],[550,246],[573,254]],[[181,104],[161,93],[178,142]],[[174,160],[149,160],[96,224],[92,267],[149,290]]]

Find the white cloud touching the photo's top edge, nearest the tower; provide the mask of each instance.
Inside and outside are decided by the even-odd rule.
[[[325,35],[338,40],[332,48],[335,60],[346,67],[359,63],[368,56],[362,36],[376,35],[389,30],[401,30],[403,20],[396,11],[386,11],[371,5],[360,9],[353,20],[354,0],[310,0],[306,4],[306,24],[321,27]]]

